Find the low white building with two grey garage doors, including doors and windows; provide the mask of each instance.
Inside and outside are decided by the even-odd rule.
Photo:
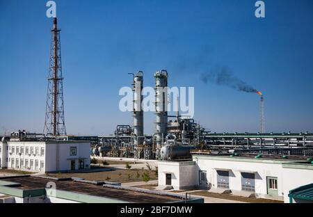
[[[289,191],[312,183],[311,161],[193,155],[193,161],[159,162],[159,188],[207,188],[289,202]]]

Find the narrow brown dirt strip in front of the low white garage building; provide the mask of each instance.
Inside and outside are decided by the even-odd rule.
[[[245,197],[231,195],[231,194],[211,193],[207,191],[195,191],[191,194],[200,195],[204,197],[210,197],[210,198],[220,198],[220,199],[236,200],[236,201],[250,202],[250,203],[284,203],[283,201],[280,201],[280,200],[269,200],[269,199],[263,199],[263,198],[245,198]]]

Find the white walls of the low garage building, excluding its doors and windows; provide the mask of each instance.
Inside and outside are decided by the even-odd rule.
[[[207,188],[218,189],[217,170],[228,170],[230,190],[241,190],[241,173],[255,174],[255,195],[289,202],[289,191],[313,183],[313,164],[286,160],[247,159],[230,156],[193,156],[195,165],[188,162],[159,162],[159,186],[166,185],[166,173],[172,174],[172,186],[179,190],[199,186],[199,171],[207,172]],[[267,177],[277,178],[278,195],[269,195]],[[247,192],[248,193],[248,192]]]

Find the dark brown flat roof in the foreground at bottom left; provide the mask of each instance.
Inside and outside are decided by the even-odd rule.
[[[14,188],[22,190],[33,190],[39,188],[46,188],[48,182],[56,183],[56,189],[61,191],[70,191],[72,193],[81,193],[85,195],[111,198],[122,200],[125,202],[136,203],[163,203],[163,202],[177,202],[182,200],[182,197],[174,195],[152,194],[140,191],[131,191],[120,188],[109,188],[102,185],[88,184],[82,182],[75,182],[73,180],[56,181],[50,179],[43,179],[39,177],[10,177],[5,179],[6,182],[15,182],[21,184]]]

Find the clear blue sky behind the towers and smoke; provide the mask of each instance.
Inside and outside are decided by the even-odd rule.
[[[44,0],[0,0],[0,134],[42,132],[51,19]],[[229,67],[265,94],[266,131],[313,131],[313,1],[56,1],[62,29],[69,134],[111,134],[131,124],[118,109],[129,72],[145,86],[166,69],[170,86],[195,87],[195,120],[217,132],[258,131],[259,98],[200,74]],[[145,133],[154,131],[145,114]]]

